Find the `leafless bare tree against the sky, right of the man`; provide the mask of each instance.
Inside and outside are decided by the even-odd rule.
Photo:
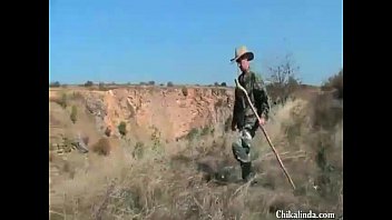
[[[297,89],[301,81],[296,77],[300,67],[295,64],[293,54],[287,53],[277,64],[267,68],[270,90],[274,98],[284,102]]]

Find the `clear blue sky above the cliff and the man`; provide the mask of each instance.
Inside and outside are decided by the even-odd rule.
[[[234,49],[252,68],[287,52],[304,83],[343,68],[342,0],[50,0],[49,80],[234,84]]]

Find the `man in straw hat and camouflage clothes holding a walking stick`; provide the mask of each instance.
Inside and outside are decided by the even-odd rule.
[[[238,76],[238,82],[247,91],[252,104],[261,119],[258,121],[252,111],[246,94],[239,88],[236,88],[232,130],[236,131],[238,129],[239,138],[233,142],[232,148],[235,159],[241,164],[244,181],[248,181],[254,176],[251,161],[251,141],[255,136],[258,124],[264,126],[270,113],[270,98],[265,86],[262,79],[258,79],[249,69],[249,61],[253,59],[254,53],[247,51],[245,46],[242,46],[235,50],[235,57],[231,60],[237,63],[242,72]]]

